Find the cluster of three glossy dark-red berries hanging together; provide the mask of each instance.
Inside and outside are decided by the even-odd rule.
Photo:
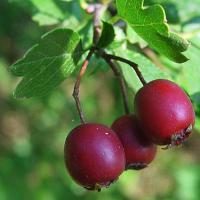
[[[195,122],[185,92],[168,80],[154,80],[136,94],[135,114],[124,115],[111,128],[86,123],[73,129],[65,142],[65,164],[71,177],[89,190],[116,181],[126,169],[143,169],[165,148],[184,142]]]

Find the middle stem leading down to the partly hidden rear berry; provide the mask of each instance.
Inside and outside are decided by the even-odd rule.
[[[104,60],[107,62],[107,64],[110,66],[113,73],[119,80],[123,103],[124,103],[124,111],[126,114],[129,114],[130,111],[129,111],[129,107],[128,107],[128,94],[127,94],[127,88],[126,88],[126,83],[124,81],[124,78],[123,78],[122,74],[120,73],[120,71],[118,70],[115,63],[111,59],[104,57]]]

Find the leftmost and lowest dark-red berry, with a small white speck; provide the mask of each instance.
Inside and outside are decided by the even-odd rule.
[[[89,190],[108,187],[125,169],[123,146],[116,133],[101,124],[82,124],[65,141],[65,164],[71,177]]]

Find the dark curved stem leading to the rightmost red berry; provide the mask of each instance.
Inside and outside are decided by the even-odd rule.
[[[112,55],[112,54],[107,54],[105,51],[101,52],[100,54],[102,56],[102,58],[104,59],[109,59],[109,60],[117,60],[117,61],[120,61],[120,62],[123,62],[123,63],[126,63],[128,65],[130,65],[135,73],[137,74],[138,78],[140,79],[141,83],[143,85],[146,85],[146,81],[144,79],[144,77],[142,76],[142,73],[140,72],[139,68],[138,68],[138,65],[130,60],[127,60],[125,58],[122,58],[122,57],[119,57],[119,56],[115,56],[115,55]]]

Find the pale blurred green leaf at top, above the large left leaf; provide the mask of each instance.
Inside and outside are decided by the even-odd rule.
[[[32,19],[41,26],[63,23],[68,28],[77,28],[85,19],[86,13],[81,8],[79,1],[29,1],[36,11]]]

